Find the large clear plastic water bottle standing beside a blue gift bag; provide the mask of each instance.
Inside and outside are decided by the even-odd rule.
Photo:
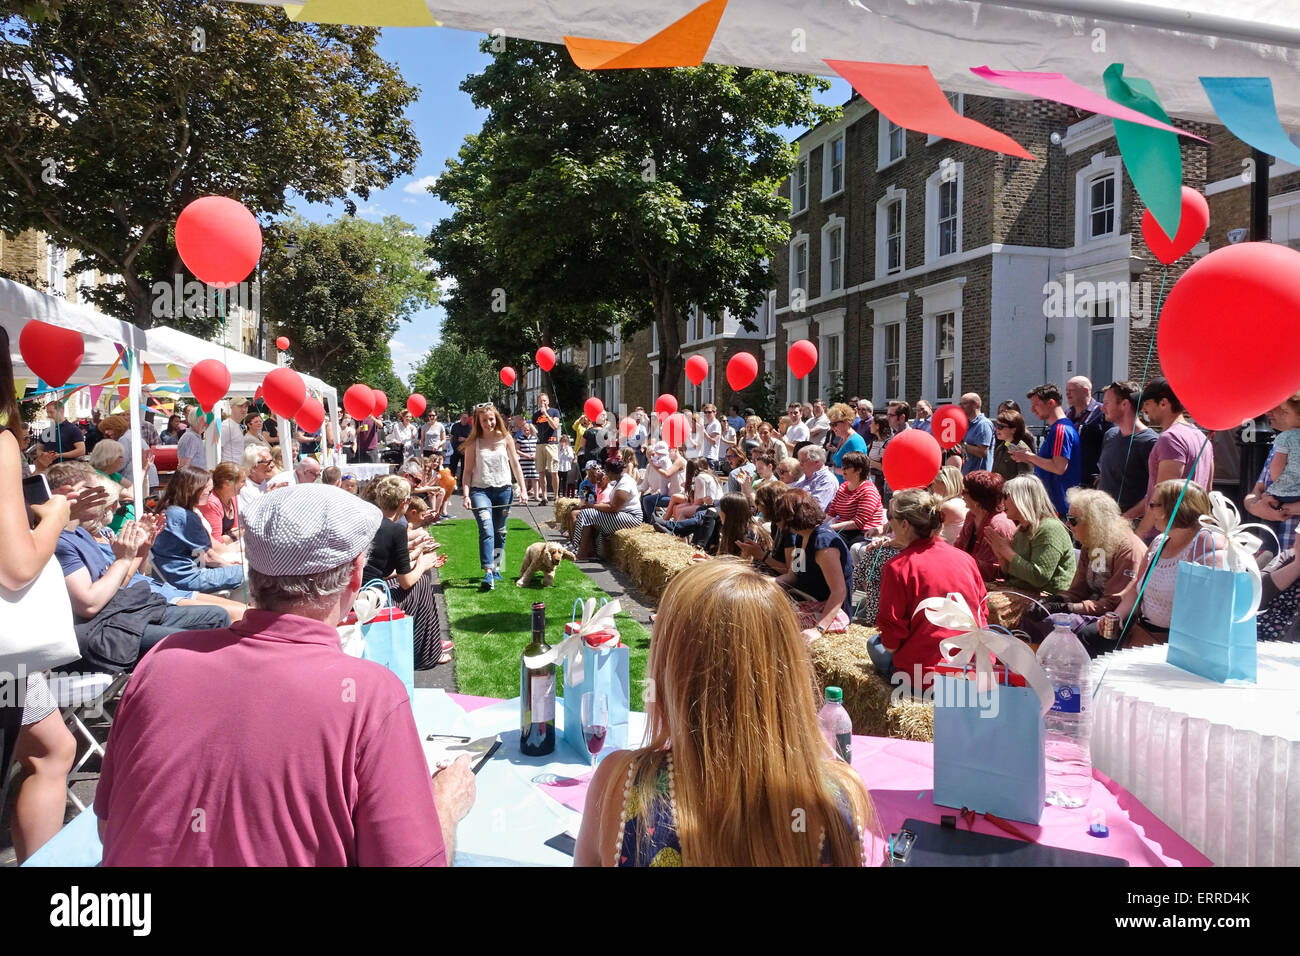
[[[1069,614],[1053,614],[1052,623],[1037,653],[1056,697],[1044,717],[1048,803],[1083,806],[1092,793],[1092,661]]]

